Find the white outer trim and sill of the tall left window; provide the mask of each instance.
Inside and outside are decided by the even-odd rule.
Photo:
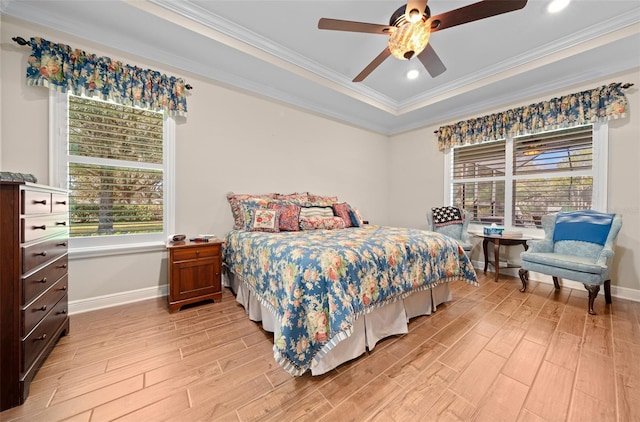
[[[49,183],[68,189],[69,94],[49,94]],[[164,250],[175,231],[175,119],[163,116],[163,231],[162,233],[69,238],[69,256],[85,258]]]

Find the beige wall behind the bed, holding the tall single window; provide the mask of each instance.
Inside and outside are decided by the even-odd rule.
[[[189,116],[176,126],[176,232],[224,235],[232,226],[225,194],[310,191],[338,195],[385,224],[389,139],[139,57],[90,45],[56,31],[2,17],[2,144],[0,169],[33,173],[48,183],[48,91],[25,85],[29,49],[12,36],[39,35],[125,63],[182,76],[194,89]],[[70,302],[166,284],[166,253],[74,259]],[[103,303],[95,301],[98,305]]]

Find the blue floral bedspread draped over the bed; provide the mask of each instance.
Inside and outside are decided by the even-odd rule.
[[[232,230],[223,260],[278,316],[274,356],[292,375],[311,368],[376,307],[451,280],[477,285],[455,240],[410,228]]]

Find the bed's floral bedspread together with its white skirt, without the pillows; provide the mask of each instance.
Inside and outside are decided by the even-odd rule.
[[[226,283],[274,333],[274,358],[294,376],[320,375],[406,333],[410,318],[451,299],[449,281],[477,285],[455,240],[411,228],[232,230],[223,262]]]

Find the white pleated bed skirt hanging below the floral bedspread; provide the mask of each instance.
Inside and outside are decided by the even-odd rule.
[[[241,277],[228,271],[224,272],[223,284],[236,294],[236,300],[244,307],[252,321],[262,322],[266,331],[278,334],[279,325],[273,313],[258,301],[245,286]],[[393,302],[374,309],[358,318],[353,333],[326,353],[317,365],[311,367],[312,375],[321,375],[333,368],[362,355],[366,349],[373,350],[376,343],[388,336],[406,334],[411,318],[431,315],[436,306],[451,300],[448,283],[416,292],[402,301]]]

